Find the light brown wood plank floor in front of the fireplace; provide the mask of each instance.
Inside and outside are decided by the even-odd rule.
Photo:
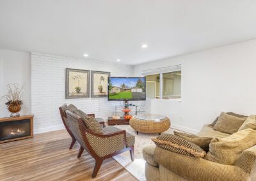
[[[92,178],[94,159],[87,152],[77,159],[79,145],[69,150],[70,143],[61,130],[0,144],[0,180],[136,180],[112,158]]]

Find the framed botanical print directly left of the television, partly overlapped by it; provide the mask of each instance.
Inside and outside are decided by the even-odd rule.
[[[108,96],[108,77],[110,72],[92,71],[92,98],[104,98]]]

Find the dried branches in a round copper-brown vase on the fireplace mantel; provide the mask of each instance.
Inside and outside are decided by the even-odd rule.
[[[19,117],[19,111],[23,101],[21,100],[24,86],[20,86],[17,83],[10,83],[6,85],[7,94],[4,98],[7,99],[5,105],[7,106],[9,112],[11,112],[10,117]]]

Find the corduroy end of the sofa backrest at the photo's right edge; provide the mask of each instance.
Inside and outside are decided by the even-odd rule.
[[[256,145],[244,150],[235,165],[239,166],[247,173],[256,171]]]

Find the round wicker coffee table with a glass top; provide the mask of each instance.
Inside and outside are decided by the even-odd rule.
[[[131,127],[141,133],[163,133],[171,126],[170,119],[164,115],[143,114],[134,115],[130,119]]]

